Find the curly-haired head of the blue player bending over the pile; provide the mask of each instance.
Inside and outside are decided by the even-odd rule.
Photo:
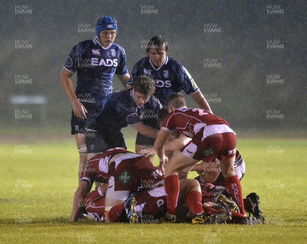
[[[148,75],[140,75],[133,83],[133,99],[138,107],[147,103],[150,96],[155,93],[156,82]]]

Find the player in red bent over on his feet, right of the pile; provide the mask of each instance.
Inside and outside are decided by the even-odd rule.
[[[167,193],[166,221],[176,221],[176,207],[179,193],[178,173],[214,154],[220,160],[221,171],[232,198],[240,212],[245,215],[242,188],[233,168],[236,153],[236,135],[227,122],[202,109],[187,108],[181,93],[173,94],[167,101],[169,114],[163,120],[154,149],[160,160],[160,166],[166,164],[165,188]],[[192,138],[168,162],[164,155],[164,144],[173,129]]]

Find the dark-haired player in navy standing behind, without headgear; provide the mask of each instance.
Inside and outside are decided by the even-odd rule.
[[[194,82],[189,72],[176,60],[167,56],[168,42],[160,35],[153,36],[147,45],[148,56],[139,60],[131,72],[127,82],[127,88],[131,88],[139,75],[149,75],[156,81],[155,96],[165,106],[167,98],[176,92],[184,90],[187,95],[196,101],[201,109],[211,112],[206,98]],[[150,140],[138,133],[136,141],[136,153],[142,151],[143,145],[150,148],[155,140]]]

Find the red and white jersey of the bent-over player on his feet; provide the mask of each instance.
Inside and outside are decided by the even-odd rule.
[[[188,137],[195,136],[203,127],[229,124],[222,118],[204,109],[179,108],[169,113],[162,123],[162,130],[177,129]]]

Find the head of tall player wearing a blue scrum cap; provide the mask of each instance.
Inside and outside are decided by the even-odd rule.
[[[96,34],[103,47],[110,46],[117,34],[116,20],[110,16],[103,16],[96,23]]]

